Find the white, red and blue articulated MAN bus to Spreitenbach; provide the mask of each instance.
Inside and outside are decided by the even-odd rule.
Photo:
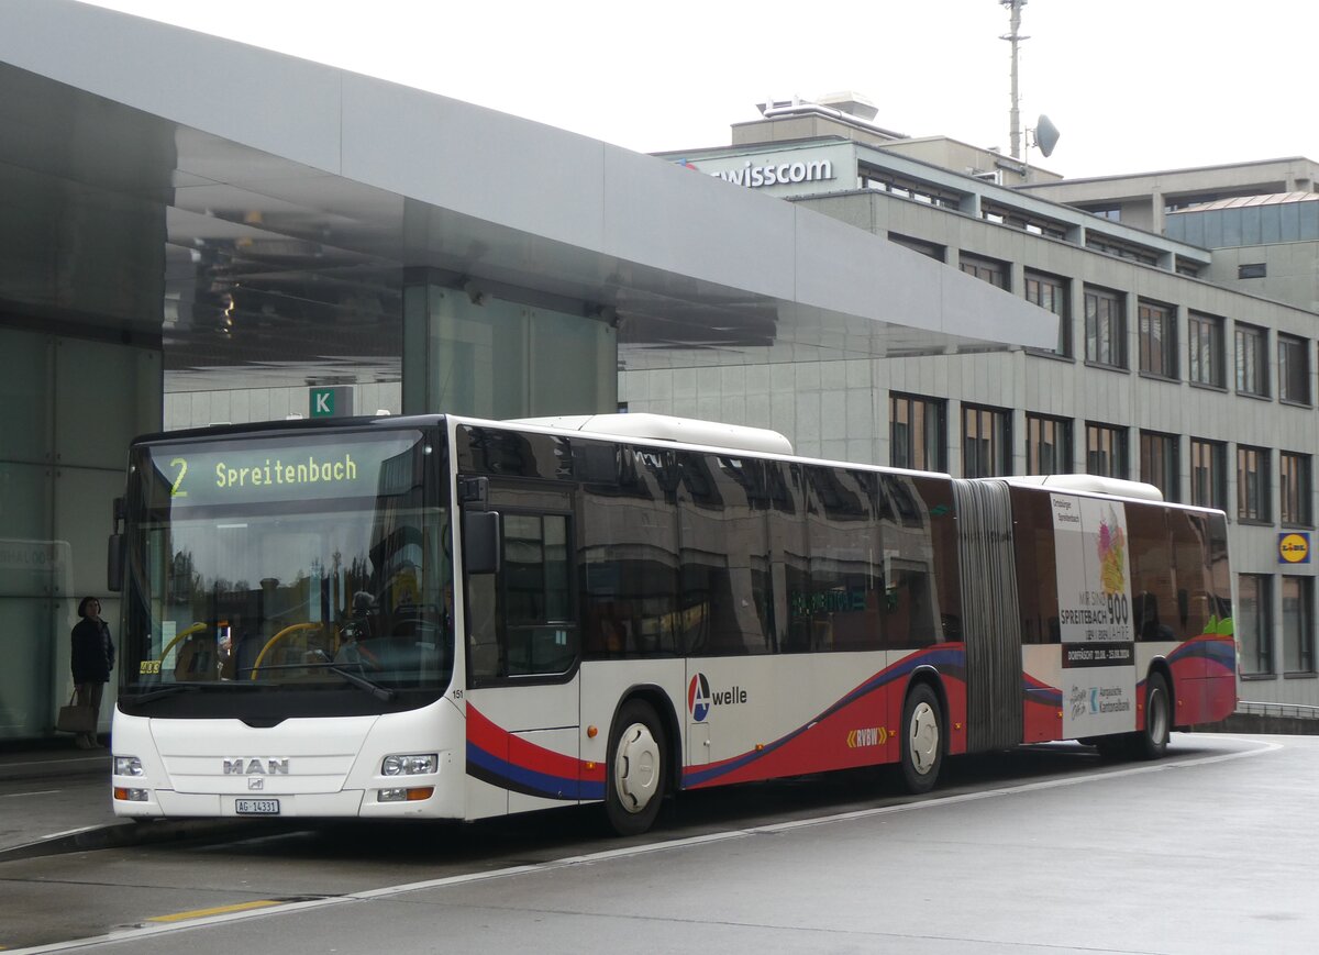
[[[711,422],[154,435],[109,553],[125,816],[603,803],[638,834],[685,789],[896,762],[925,793],[1045,740],[1153,758],[1236,704],[1221,512]]]

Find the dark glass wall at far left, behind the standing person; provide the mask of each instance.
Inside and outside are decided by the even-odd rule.
[[[117,629],[111,501],[129,439],[160,430],[160,389],[157,352],[0,330],[0,739],[51,733],[79,598],[100,598]],[[111,712],[107,700],[103,729]]]

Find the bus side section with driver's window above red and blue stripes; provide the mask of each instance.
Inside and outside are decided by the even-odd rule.
[[[500,567],[466,574],[463,600],[471,818],[579,798],[568,505],[553,491],[489,488]]]

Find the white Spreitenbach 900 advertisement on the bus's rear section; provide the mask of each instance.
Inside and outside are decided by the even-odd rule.
[[[1062,636],[1063,736],[1136,727],[1136,627],[1121,501],[1050,495]]]

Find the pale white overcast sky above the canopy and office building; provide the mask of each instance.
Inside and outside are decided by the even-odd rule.
[[[852,90],[874,121],[1009,150],[998,0],[88,0],[638,152],[727,145],[766,98]],[[1067,177],[1306,156],[1306,0],[1029,0],[1022,125]]]

